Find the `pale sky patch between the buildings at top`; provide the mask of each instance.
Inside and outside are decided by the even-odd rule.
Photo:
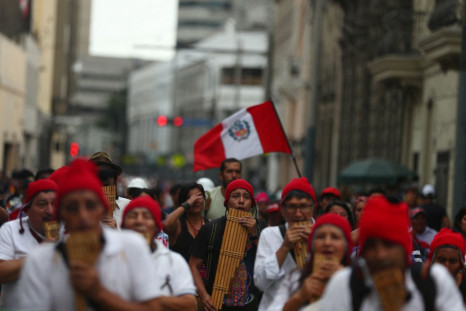
[[[89,52],[165,61],[173,57],[178,0],[92,0]]]

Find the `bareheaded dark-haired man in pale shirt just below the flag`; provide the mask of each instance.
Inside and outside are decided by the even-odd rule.
[[[225,216],[225,191],[228,184],[232,180],[241,178],[242,164],[239,160],[234,158],[228,158],[223,160],[220,165],[220,171],[218,172],[218,178],[222,183],[220,186],[207,191],[206,200],[206,217],[210,220],[214,220]]]

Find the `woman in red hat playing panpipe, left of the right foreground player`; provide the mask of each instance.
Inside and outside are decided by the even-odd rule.
[[[350,263],[353,248],[351,226],[346,218],[327,213],[319,217],[308,239],[310,258],[303,271],[287,279],[294,294],[283,310],[320,310],[320,297],[327,281]],[[299,281],[298,281],[299,278]]]

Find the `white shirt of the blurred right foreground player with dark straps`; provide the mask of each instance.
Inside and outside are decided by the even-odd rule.
[[[437,290],[435,297],[435,310],[437,311],[464,311],[463,299],[458,290],[458,287],[453,281],[453,278],[448,271],[439,264],[433,264],[430,270],[431,276],[434,279]],[[351,268],[345,268],[338,271],[328,283],[322,297],[322,310],[325,311],[340,311],[352,309],[352,297],[350,289]],[[405,273],[406,288],[411,293],[411,299],[405,303],[401,311],[419,311],[424,310],[424,302],[421,292],[417,289],[416,284],[411,278],[409,270]],[[364,298],[361,311],[382,310],[380,301],[373,282],[367,280],[368,285],[372,290],[369,295]]]

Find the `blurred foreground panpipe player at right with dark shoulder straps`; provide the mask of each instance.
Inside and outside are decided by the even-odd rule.
[[[330,279],[322,310],[465,310],[442,265],[411,265],[406,203],[370,198],[361,217],[359,242],[358,264]]]

